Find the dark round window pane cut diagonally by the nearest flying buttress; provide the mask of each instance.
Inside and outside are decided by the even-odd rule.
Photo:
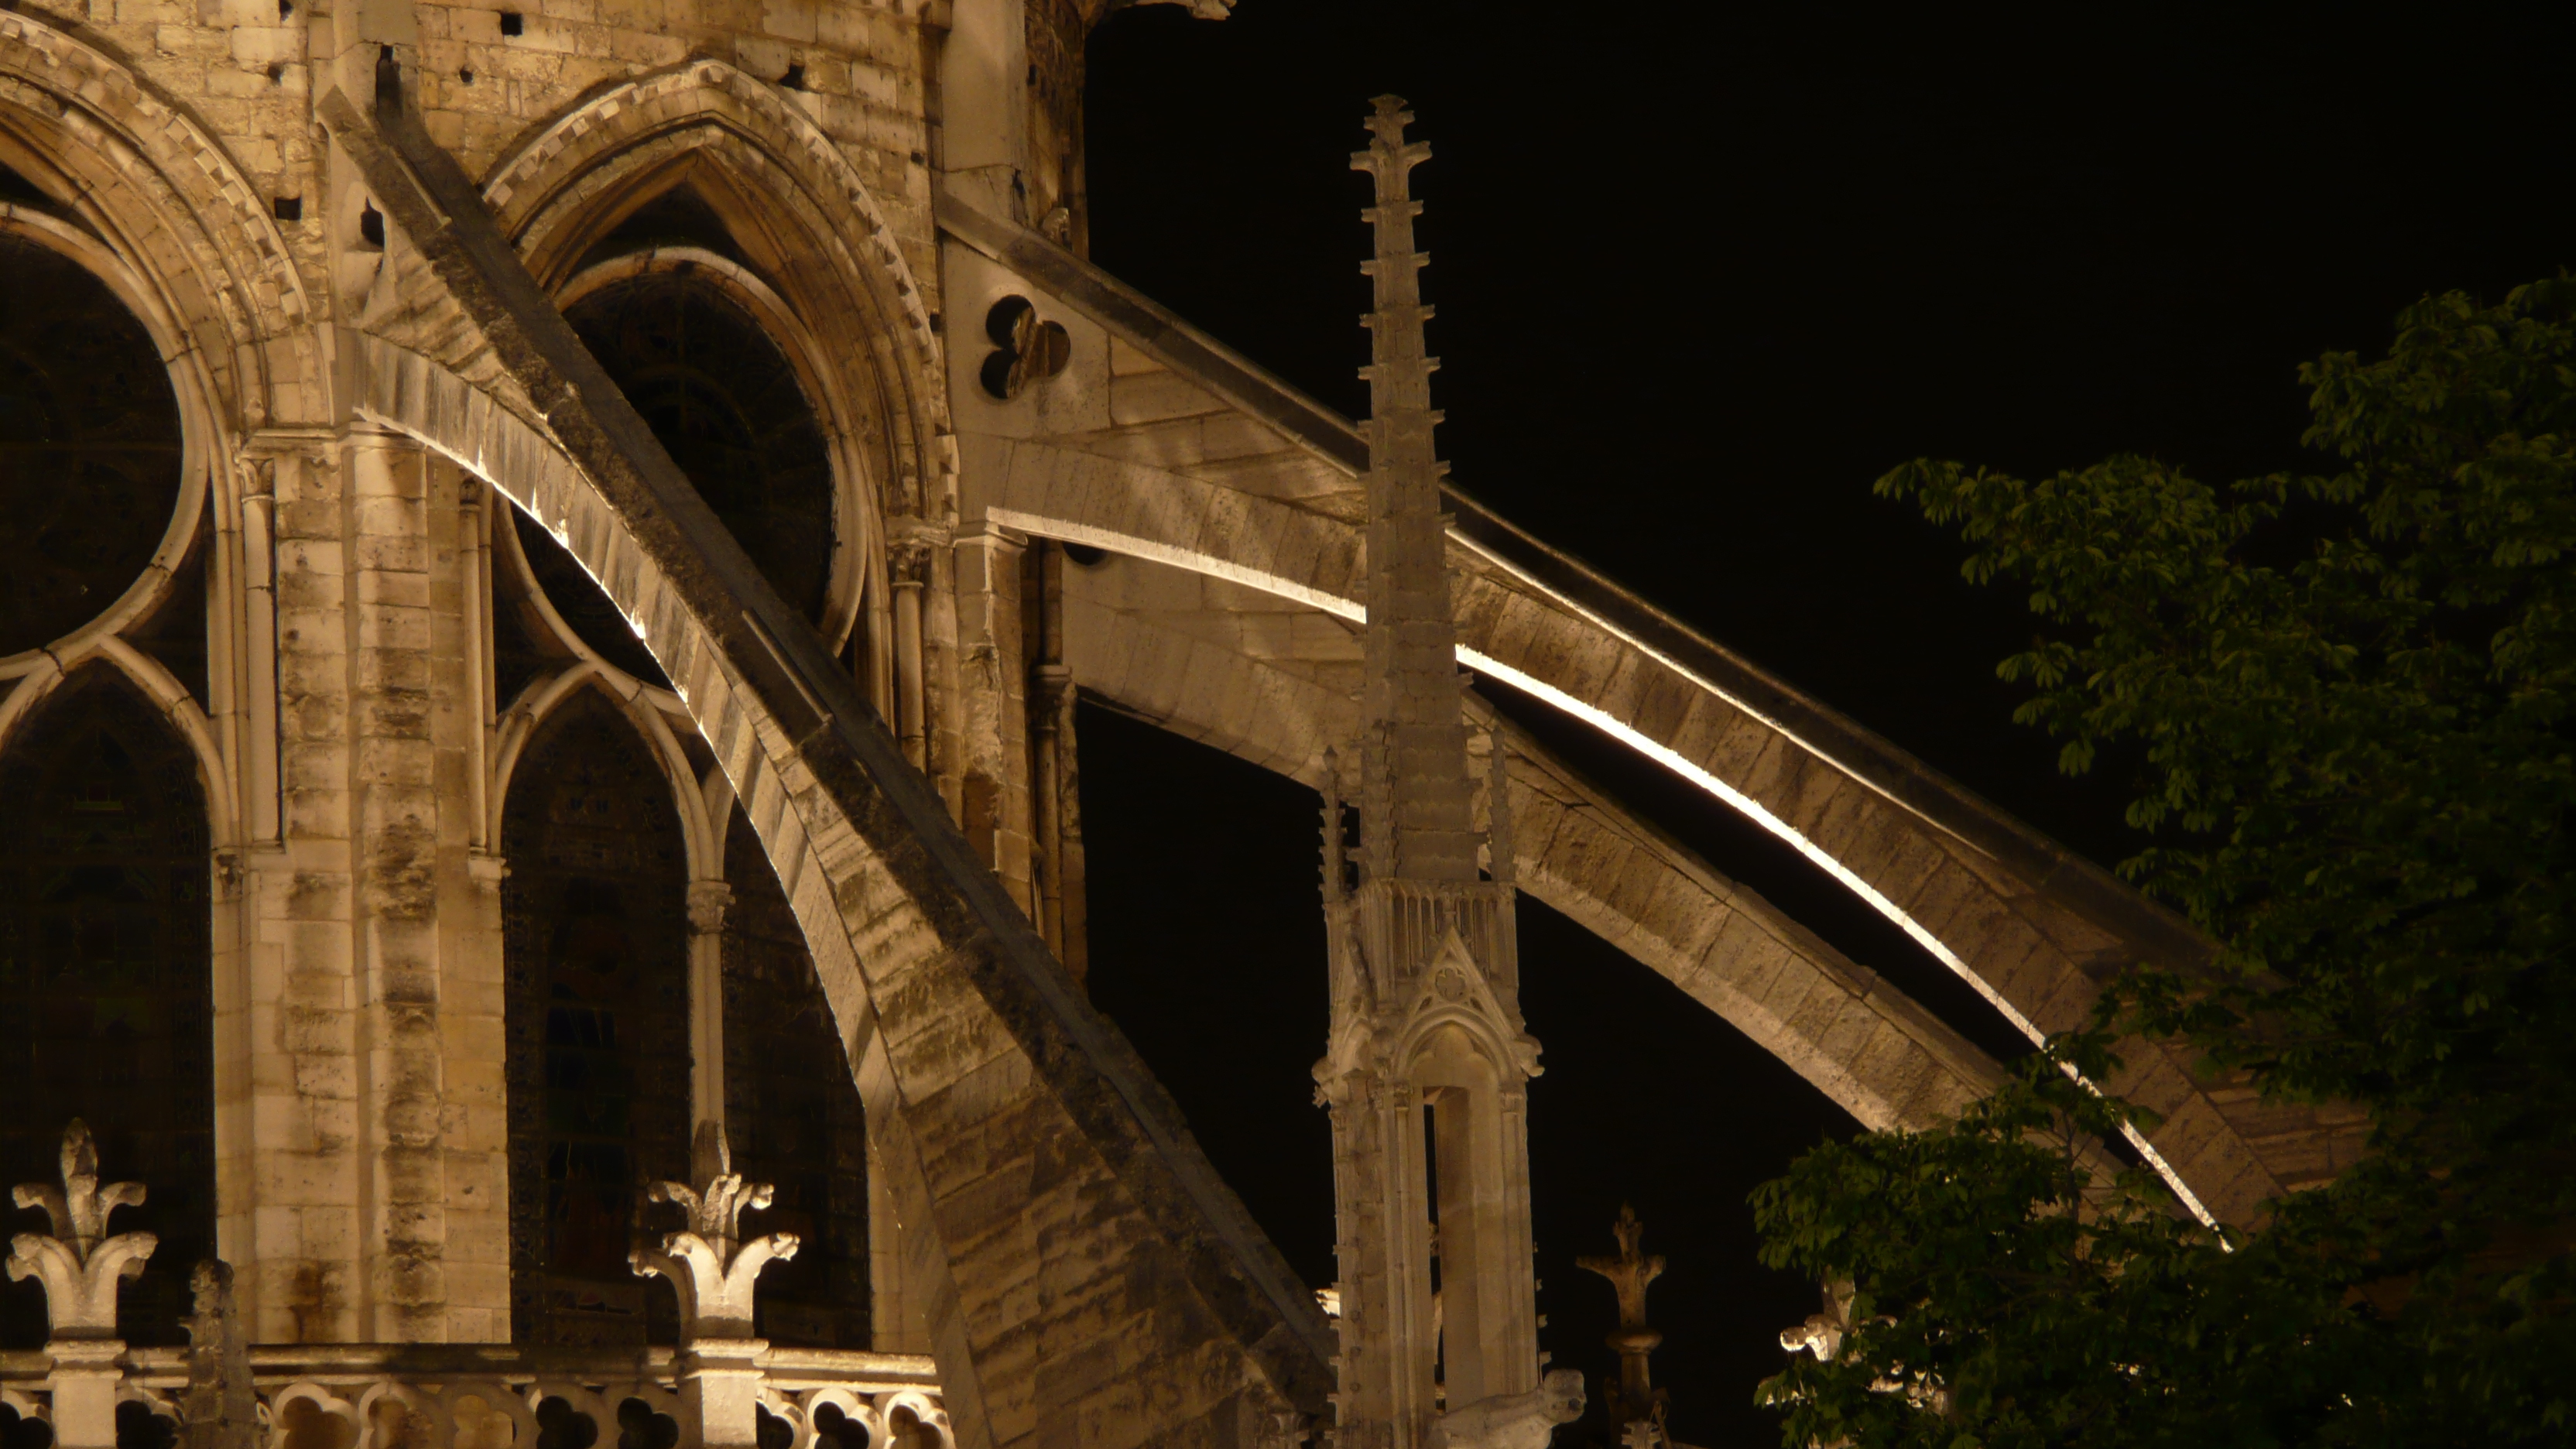
[[[564,317],[791,608],[832,583],[832,454],[760,322],[688,271],[616,281]]]

